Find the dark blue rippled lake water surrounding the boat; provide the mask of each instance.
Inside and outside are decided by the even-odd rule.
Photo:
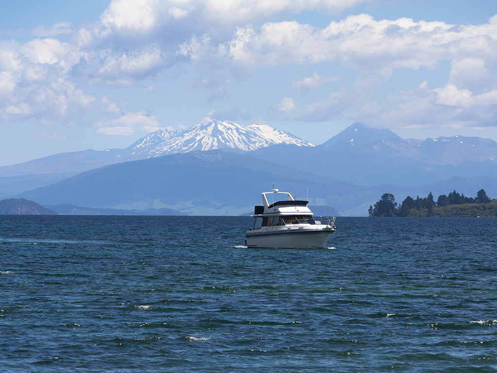
[[[0,371],[497,372],[496,223],[0,216]]]

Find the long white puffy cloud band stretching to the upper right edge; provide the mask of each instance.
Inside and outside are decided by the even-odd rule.
[[[376,21],[360,14],[332,21],[325,29],[296,21],[247,26],[225,48],[240,63],[336,62],[388,76],[396,68],[432,68],[438,60],[495,57],[496,39],[497,17],[481,26],[456,27],[408,18]]]

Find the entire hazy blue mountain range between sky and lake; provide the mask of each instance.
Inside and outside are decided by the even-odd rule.
[[[260,192],[274,183],[301,198],[309,187],[311,205],[358,216],[385,192],[398,202],[408,194],[431,191],[436,198],[454,189],[474,196],[484,188],[497,197],[496,175],[497,143],[490,139],[402,139],[354,123],[314,146],[261,124],[213,121],[187,131],[157,131],[126,149],[1,167],[0,197],[51,206],[238,215],[251,211]]]

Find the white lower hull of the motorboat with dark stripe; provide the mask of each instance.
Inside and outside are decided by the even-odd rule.
[[[325,247],[335,230],[324,229],[284,229],[248,231],[246,245],[248,247],[303,249]]]

